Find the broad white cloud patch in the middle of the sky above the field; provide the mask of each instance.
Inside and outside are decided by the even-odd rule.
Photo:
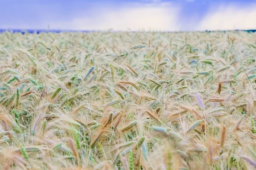
[[[151,29],[161,31],[180,30],[177,6],[170,3],[133,4],[130,6],[98,8],[90,16],[74,18],[68,23],[51,23],[50,28],[74,30],[133,31]]]

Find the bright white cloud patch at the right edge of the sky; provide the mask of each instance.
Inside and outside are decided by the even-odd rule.
[[[210,10],[196,30],[256,29],[256,5],[221,6]]]

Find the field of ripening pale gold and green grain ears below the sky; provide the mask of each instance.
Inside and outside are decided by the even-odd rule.
[[[0,34],[1,170],[253,170],[256,33]]]

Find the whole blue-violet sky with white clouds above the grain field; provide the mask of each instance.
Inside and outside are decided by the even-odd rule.
[[[256,29],[256,0],[0,0],[0,29]]]

